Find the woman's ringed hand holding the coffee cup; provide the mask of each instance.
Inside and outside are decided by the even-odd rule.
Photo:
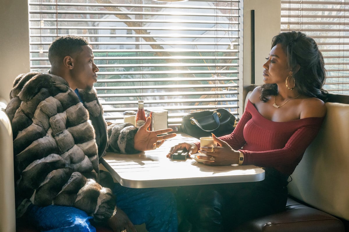
[[[215,147],[200,147],[200,155],[196,155],[198,159],[204,161],[206,165],[210,166],[224,166],[239,163],[239,152],[232,149],[229,144],[212,134],[213,141],[220,146]]]

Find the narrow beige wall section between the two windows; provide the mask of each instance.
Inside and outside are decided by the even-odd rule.
[[[240,102],[243,102],[241,98],[246,96],[251,85],[251,10],[254,10],[255,17],[255,84],[261,85],[263,84],[262,65],[271,49],[272,38],[280,33],[281,0],[244,0],[244,94],[239,97]]]

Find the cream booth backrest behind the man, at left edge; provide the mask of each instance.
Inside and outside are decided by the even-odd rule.
[[[13,138],[6,101],[0,98],[0,232],[15,232]]]

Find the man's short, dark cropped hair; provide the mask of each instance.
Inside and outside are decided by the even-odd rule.
[[[55,39],[49,48],[51,65],[63,62],[64,57],[74,56],[82,51],[82,46],[89,45],[87,39],[76,35],[65,35]]]

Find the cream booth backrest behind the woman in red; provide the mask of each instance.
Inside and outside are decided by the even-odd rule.
[[[326,106],[325,121],[291,175],[288,190],[314,208],[349,220],[349,104]]]

